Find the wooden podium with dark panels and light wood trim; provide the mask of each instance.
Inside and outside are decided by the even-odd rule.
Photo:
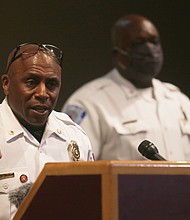
[[[14,220],[188,220],[190,163],[48,163]]]

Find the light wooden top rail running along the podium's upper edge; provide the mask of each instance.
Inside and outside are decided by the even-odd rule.
[[[145,169],[149,168],[149,169]],[[41,176],[44,175],[69,175],[69,174],[103,174],[112,173],[157,173],[164,174],[167,168],[168,173],[190,174],[190,162],[179,161],[118,161],[118,160],[100,160],[91,162],[63,162],[63,163],[46,163]],[[176,168],[180,168],[177,169]],[[184,168],[184,169],[183,169]],[[147,174],[148,174],[147,173]]]

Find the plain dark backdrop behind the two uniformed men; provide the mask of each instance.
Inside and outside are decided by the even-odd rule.
[[[190,97],[189,0],[6,0],[0,6],[0,72],[20,43],[52,43],[64,51],[63,81],[56,109],[85,82],[112,68],[110,29],[128,13],[158,27],[165,61],[159,76]],[[4,94],[0,88],[0,101]]]

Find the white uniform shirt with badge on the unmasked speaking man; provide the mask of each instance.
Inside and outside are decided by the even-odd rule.
[[[79,147],[79,161],[93,160],[88,137],[66,114],[52,111],[39,143],[20,125],[7,101],[3,101],[0,105],[0,220],[12,219],[16,212],[8,195],[23,185],[22,175],[27,183],[34,182],[46,162],[73,161],[68,150],[72,140]]]

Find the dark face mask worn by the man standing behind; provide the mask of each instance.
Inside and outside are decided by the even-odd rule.
[[[160,45],[144,43],[131,49],[128,54],[128,65],[118,63],[122,75],[139,86],[150,86],[152,79],[162,68],[163,53]]]

